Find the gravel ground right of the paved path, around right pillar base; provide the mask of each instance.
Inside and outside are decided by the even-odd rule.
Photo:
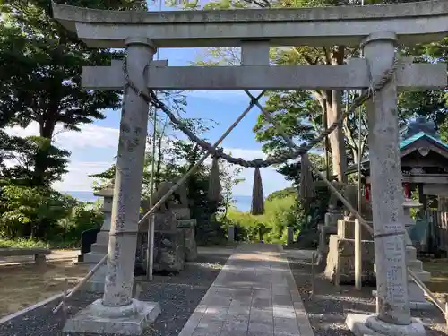
[[[337,291],[330,281],[316,271],[314,295],[311,293],[311,263],[309,260],[288,258],[297,289],[302,297],[315,336],[353,336],[345,324],[347,314],[375,313],[373,287],[357,291],[353,286],[340,286]],[[428,326],[427,335],[446,335],[444,316],[436,308],[428,312],[412,312]]]

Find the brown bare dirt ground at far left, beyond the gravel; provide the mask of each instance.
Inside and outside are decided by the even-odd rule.
[[[67,260],[50,260],[43,267],[32,263],[0,266],[0,317],[62,293],[65,278],[69,289],[73,288],[88,271],[87,265]]]

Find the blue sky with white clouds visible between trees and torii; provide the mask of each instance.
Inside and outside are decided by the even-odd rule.
[[[158,5],[155,5],[158,7]],[[157,9],[154,5],[151,9]],[[173,10],[164,7],[164,10]],[[192,48],[160,49],[159,59],[168,59],[168,65],[190,65],[201,58],[206,50]],[[254,92],[254,94],[257,92]],[[246,109],[250,99],[242,90],[236,91],[191,91],[187,93],[185,117],[213,119],[215,125],[208,134],[204,134],[210,142],[216,141],[231,125],[237,116]],[[255,141],[252,129],[260,111],[253,108],[246,118],[237,125],[232,134],[222,143],[225,151],[244,159],[263,157],[261,144]],[[64,180],[56,183],[61,191],[89,191],[92,179],[90,174],[99,173],[114,162],[117,150],[118,125],[120,111],[106,110],[106,119],[96,121],[93,125],[83,125],[81,133],[58,131],[55,136],[56,145],[72,152],[69,173]],[[11,134],[38,134],[38,125],[30,125],[27,129],[14,127]],[[147,149],[148,150],[148,149]],[[244,169],[241,177],[246,181],[234,188],[234,194],[250,195],[253,185],[253,169]],[[289,182],[272,168],[262,170],[264,194],[289,186]]]

